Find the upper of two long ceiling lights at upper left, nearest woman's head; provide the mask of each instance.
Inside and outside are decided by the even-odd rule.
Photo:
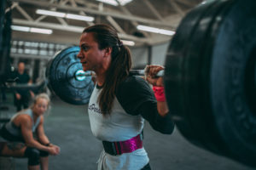
[[[61,17],[61,18],[67,18],[67,19],[73,19],[73,20],[85,20],[85,21],[89,21],[89,22],[94,20],[94,17],[91,17],[91,16],[84,16],[84,15],[79,15],[79,14],[66,14],[66,13],[60,13],[60,12],[44,10],[44,9],[37,9],[36,13],[49,15],[49,16],[56,16],[56,17]]]

